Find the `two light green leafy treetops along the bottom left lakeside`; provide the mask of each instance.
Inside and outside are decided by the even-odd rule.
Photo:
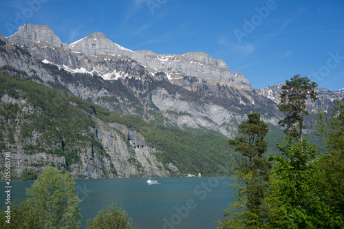
[[[53,166],[47,166],[44,172],[26,190],[27,199],[11,205],[10,218],[6,218],[6,209],[0,212],[1,228],[79,228],[80,199],[75,194],[76,187],[72,176],[61,173]],[[87,221],[86,228],[136,228],[127,212],[110,204],[98,212],[94,219]]]

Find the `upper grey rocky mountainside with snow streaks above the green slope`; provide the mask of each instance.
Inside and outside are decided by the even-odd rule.
[[[45,83],[61,84],[76,96],[90,98],[113,111],[137,114],[146,120],[164,116],[165,124],[205,127],[227,136],[235,134],[235,125],[229,120],[241,121],[245,118],[244,113],[250,111],[264,111],[265,120],[276,123],[273,102],[257,94],[244,76],[230,72],[223,61],[203,53],[157,55],[149,51],[133,52],[112,43],[100,33],[66,46],[46,25],[24,25],[6,42],[28,50],[30,57],[13,56],[12,50],[5,47],[7,51],[0,56],[0,66],[19,69],[29,76],[36,75]],[[39,61],[71,73],[95,74],[107,82],[99,87],[81,82],[83,76],[61,78],[52,72],[52,67],[42,67]],[[134,83],[132,79],[139,82]],[[116,89],[109,88],[109,85],[115,85]],[[119,88],[125,92],[118,93]],[[164,102],[160,98],[174,102]],[[174,106],[182,100],[187,105]],[[172,116],[173,112],[191,115]]]

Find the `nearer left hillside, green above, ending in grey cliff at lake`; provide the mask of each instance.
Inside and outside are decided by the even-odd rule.
[[[4,74],[0,82],[0,150],[12,152],[12,174],[52,163],[76,178],[170,175],[140,133],[96,118],[92,103]]]

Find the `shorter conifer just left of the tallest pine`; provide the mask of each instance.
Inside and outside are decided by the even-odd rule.
[[[238,135],[228,140],[242,159],[235,157],[238,167],[236,178],[239,184],[237,201],[230,204],[224,216],[226,221],[220,228],[261,228],[266,212],[266,188],[271,164],[263,157],[267,142],[264,137],[268,124],[260,120],[259,113],[248,114],[248,120],[239,124]]]

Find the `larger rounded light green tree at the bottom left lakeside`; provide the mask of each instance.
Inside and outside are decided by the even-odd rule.
[[[76,228],[80,224],[80,199],[74,194],[75,182],[69,173],[47,166],[26,191],[32,214],[39,215],[44,228]]]

